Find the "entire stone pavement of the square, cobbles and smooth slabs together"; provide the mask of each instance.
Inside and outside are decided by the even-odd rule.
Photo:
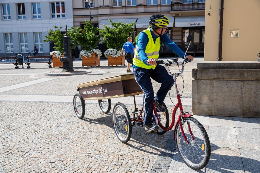
[[[165,59],[165,58],[161,58]],[[204,58],[188,63],[178,86],[183,107],[191,112],[192,69]],[[82,69],[81,61],[73,62]],[[73,109],[77,84],[126,73],[126,66],[84,68],[91,73],[76,76],[44,76],[47,64],[32,69],[0,65],[0,173],[2,172],[259,172],[260,118],[194,115],[205,127],[211,142],[211,159],[206,168],[193,171],[181,160],[173,141],[173,130],[164,135],[145,134],[134,126],[127,144],[119,142],[112,124],[117,102],[134,110],[133,97],[111,99],[104,114],[96,100],[86,101],[83,119]],[[179,71],[172,66],[173,72]],[[154,90],[159,84],[153,83]],[[174,103],[175,91],[170,95]],[[142,95],[136,96],[141,108]],[[165,99],[173,110],[169,95]],[[171,114],[170,114],[171,115]],[[175,151],[176,150],[176,151]],[[257,171],[258,170],[258,171]]]

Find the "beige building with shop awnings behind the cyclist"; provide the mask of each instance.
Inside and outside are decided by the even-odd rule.
[[[180,48],[185,49],[186,37],[192,34],[195,38],[190,51],[204,52],[205,0],[93,0],[90,6],[85,0],[73,0],[74,27],[82,28],[90,16],[92,25],[101,29],[104,24],[110,25],[108,19],[136,22],[133,33],[136,37],[149,26],[149,16],[154,14],[169,18],[166,33]],[[161,52],[170,50],[162,46]]]

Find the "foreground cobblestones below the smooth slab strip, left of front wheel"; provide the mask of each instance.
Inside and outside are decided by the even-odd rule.
[[[88,104],[83,119],[68,103],[2,104],[0,172],[167,172],[176,149],[173,131],[145,134],[136,125],[121,143],[111,111],[102,113],[98,104]]]

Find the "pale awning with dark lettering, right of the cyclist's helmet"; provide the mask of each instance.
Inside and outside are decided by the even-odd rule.
[[[205,26],[205,16],[175,17],[175,27]]]

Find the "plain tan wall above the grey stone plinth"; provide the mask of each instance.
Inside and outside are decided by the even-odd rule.
[[[222,61],[257,61],[260,58],[259,0],[223,1]],[[219,1],[206,1],[205,61],[218,61]],[[259,57],[258,57],[259,56]]]

